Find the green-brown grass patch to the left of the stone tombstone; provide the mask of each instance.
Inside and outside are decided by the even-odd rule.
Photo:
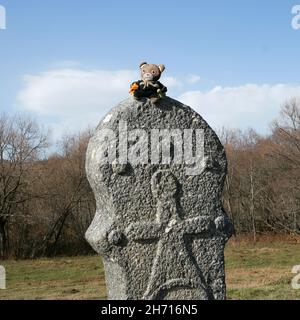
[[[6,290],[0,299],[105,299],[104,270],[97,256],[2,261]]]

